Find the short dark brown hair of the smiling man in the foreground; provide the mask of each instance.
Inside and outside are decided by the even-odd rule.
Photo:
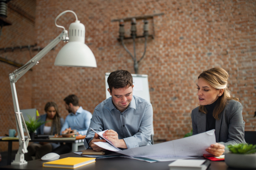
[[[130,87],[132,85],[132,75],[126,70],[116,70],[115,72],[111,72],[108,76],[108,87],[110,92],[112,92],[112,88],[119,89],[125,88],[126,86]]]

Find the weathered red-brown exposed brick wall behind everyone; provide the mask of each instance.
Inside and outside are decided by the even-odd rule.
[[[24,0],[16,0],[18,4]],[[11,1],[12,2],[12,1]],[[34,2],[34,1],[30,1]],[[14,3],[14,2],[13,2]],[[21,6],[22,7],[22,6]],[[24,7],[23,10],[33,11]],[[44,47],[61,29],[54,24],[55,17],[64,10],[73,10],[86,28],[85,43],[93,51],[97,68],[73,68],[54,66],[55,56],[64,46],[59,43],[54,50],[41,59],[32,72],[26,73],[17,83],[20,108],[26,106],[37,108],[44,114],[47,101],[55,101],[61,116],[66,117],[63,99],[69,94],[79,96],[80,105],[93,112],[96,105],[105,99],[105,72],[126,69],[131,73],[133,61],[116,38],[119,23],[113,19],[164,13],[150,20],[150,32],[154,39],[148,39],[145,58],[139,64],[140,74],[148,75],[151,103],[154,109],[154,139],[173,140],[182,138],[192,129],[191,111],[198,106],[197,77],[209,68],[218,66],[230,74],[230,87],[233,96],[240,99],[243,105],[245,130],[256,130],[256,1],[254,0],[37,0],[35,25],[23,17],[17,26],[9,28],[17,32],[26,29],[27,38],[13,36],[11,33],[0,39],[0,46],[17,46],[37,43]],[[31,16],[33,13],[28,12]],[[15,19],[17,14],[9,14]],[[67,29],[75,20],[67,13],[58,20],[59,25]],[[137,21],[138,35],[142,34],[142,20]],[[29,25],[30,24],[30,25]],[[125,22],[126,35],[130,23]],[[25,28],[25,26],[30,26]],[[32,30],[34,28],[34,30]],[[3,34],[7,27],[3,29]],[[34,33],[35,32],[35,33]],[[10,37],[12,36],[12,37]],[[19,34],[20,36],[20,34]],[[5,44],[3,40],[9,44]],[[125,41],[133,53],[130,40]],[[137,40],[137,55],[143,53],[143,39]],[[29,53],[2,53],[20,63],[29,60]],[[33,53],[35,55],[36,52]],[[12,96],[8,74],[15,69],[6,63],[1,66],[1,134],[15,128],[14,119],[2,118],[3,111],[13,112]],[[31,78],[32,77],[32,78]],[[21,86],[26,79],[27,86]],[[18,85],[19,84],[19,85]],[[18,89],[19,88],[21,89]],[[3,96],[5,96],[3,98]],[[18,96],[18,97],[19,97]],[[6,98],[6,99],[5,99]],[[6,103],[6,101],[8,101]],[[4,106],[3,106],[4,103]],[[6,121],[5,121],[6,120]],[[1,144],[2,145],[2,144]],[[7,145],[5,145],[7,146]],[[0,147],[6,150],[6,147]]]

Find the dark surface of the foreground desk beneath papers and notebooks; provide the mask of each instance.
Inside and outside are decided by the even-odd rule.
[[[60,158],[66,157],[82,157],[75,153],[67,153],[61,155]],[[203,157],[199,157],[199,159],[204,159]],[[1,170],[67,170],[66,168],[51,168],[51,167],[43,167],[43,163],[45,161],[41,161],[41,159],[37,159],[34,161],[28,161],[26,165],[8,165],[4,167],[0,167]],[[172,161],[166,162],[154,162],[149,163],[146,161],[138,161],[129,158],[101,158],[96,159],[96,162],[85,165],[83,167],[76,168],[75,170],[169,170],[168,164]],[[207,170],[239,170],[228,167],[224,161],[211,161],[211,165]]]

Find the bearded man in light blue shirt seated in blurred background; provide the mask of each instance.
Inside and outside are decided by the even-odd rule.
[[[79,106],[79,100],[76,95],[69,95],[64,101],[65,107],[70,114],[66,117],[61,133],[65,134],[76,130],[77,134],[86,135],[92,114]]]

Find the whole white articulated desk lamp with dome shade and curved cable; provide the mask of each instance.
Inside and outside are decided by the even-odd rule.
[[[17,131],[19,136],[19,150],[15,156],[15,160],[12,162],[14,165],[22,165],[27,164],[27,161],[24,160],[24,153],[27,153],[27,146],[29,144],[30,136],[29,132],[25,126],[26,133],[28,138],[25,141],[22,122],[25,125],[25,121],[22,113],[20,112],[19,103],[17,99],[17,93],[15,88],[15,83],[23,76],[29,69],[38,64],[39,60],[44,57],[53,47],[55,47],[61,40],[64,42],[68,42],[58,53],[55,58],[55,66],[75,66],[75,67],[97,67],[96,60],[93,55],[93,52],[90,48],[84,44],[85,39],[85,27],[84,24],[80,23],[77,20],[75,23],[71,23],[69,27],[69,36],[67,30],[63,26],[58,26],[56,21],[58,18],[67,12],[72,12],[75,16],[76,13],[73,11],[64,11],[55,18],[55,25],[57,27],[63,28],[64,31],[52,40],[44,49],[41,50],[35,57],[29,60],[25,65],[16,69],[13,73],[9,74],[11,89],[12,89],[12,100],[15,111],[15,119],[17,124]]]

